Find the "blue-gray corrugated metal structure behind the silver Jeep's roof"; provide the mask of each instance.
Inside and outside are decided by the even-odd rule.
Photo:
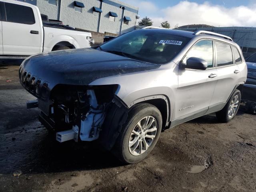
[[[244,57],[256,52],[256,27],[211,27],[211,28],[177,28],[178,30],[206,30],[230,36],[236,42]]]

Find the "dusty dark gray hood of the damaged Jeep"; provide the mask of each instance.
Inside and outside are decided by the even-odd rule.
[[[88,85],[98,78],[152,70],[159,66],[93,48],[62,50],[24,60],[20,66],[20,82],[28,90],[26,84],[30,84],[34,77],[35,82],[38,79],[41,84],[46,82],[50,91],[57,84]]]

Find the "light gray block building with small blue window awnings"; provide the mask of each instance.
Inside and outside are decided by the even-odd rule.
[[[138,7],[118,0],[19,0],[63,24],[94,32],[122,34],[135,29]]]

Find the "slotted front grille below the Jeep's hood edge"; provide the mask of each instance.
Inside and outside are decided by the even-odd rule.
[[[42,79],[32,75],[22,67],[19,70],[19,78],[22,86],[24,86],[24,88],[26,88],[30,93],[42,99],[47,98],[49,94],[47,89],[49,84],[48,82],[42,82]]]

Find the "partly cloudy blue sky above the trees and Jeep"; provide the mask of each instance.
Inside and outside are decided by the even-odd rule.
[[[168,20],[176,24],[213,26],[256,26],[256,0],[122,0],[139,7],[141,18],[148,16],[154,26]]]

